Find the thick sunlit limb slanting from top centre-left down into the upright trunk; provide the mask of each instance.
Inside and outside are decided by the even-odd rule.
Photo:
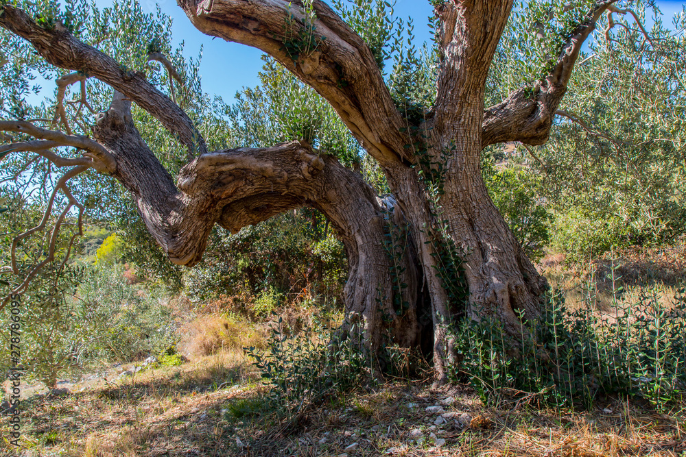
[[[303,20],[301,1],[178,3],[204,34],[257,47],[312,86],[382,165],[412,162],[410,151],[403,148],[411,141],[400,131],[402,116],[369,47],[326,3],[314,0],[314,27]],[[289,45],[300,45],[303,40],[316,46],[297,57],[287,51]]]

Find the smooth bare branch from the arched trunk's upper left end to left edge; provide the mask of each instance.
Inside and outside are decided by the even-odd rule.
[[[0,132],[19,132],[22,134],[33,136],[34,138],[49,140],[55,143],[54,145],[47,147],[71,146],[77,149],[83,149],[84,151],[86,151],[86,153],[84,153],[84,156],[88,157],[91,160],[90,166],[93,166],[93,168],[97,171],[101,173],[112,174],[115,173],[115,171],[117,170],[117,161],[112,156],[112,154],[110,154],[107,151],[107,149],[102,147],[102,145],[99,145],[96,141],[93,141],[91,140],[91,138],[88,138],[86,136],[67,135],[62,132],[56,132],[54,130],[42,129],[26,121],[0,121]],[[21,144],[29,145],[32,143],[35,142],[27,142]],[[25,150],[38,152],[34,149]],[[51,160],[50,158],[48,159]]]

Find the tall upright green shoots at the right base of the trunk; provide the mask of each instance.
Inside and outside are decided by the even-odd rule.
[[[522,322],[514,340],[500,321],[465,319],[454,328],[461,360],[453,380],[467,380],[484,400],[514,392],[539,404],[590,408],[622,395],[667,408],[686,392],[683,291],[672,306],[652,291],[633,303],[615,299],[614,307],[598,317],[590,299],[571,312],[552,296],[541,319]]]

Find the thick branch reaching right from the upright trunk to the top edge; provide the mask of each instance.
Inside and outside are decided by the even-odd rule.
[[[569,77],[584,41],[614,1],[605,0],[595,5],[571,33],[548,75],[486,110],[482,127],[483,147],[507,141],[526,145],[542,145],[547,141],[555,112],[567,92]]]

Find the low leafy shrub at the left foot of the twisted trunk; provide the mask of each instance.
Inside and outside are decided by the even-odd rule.
[[[286,415],[298,415],[329,397],[345,395],[367,377],[366,351],[359,350],[364,347],[362,341],[353,336],[338,341],[327,328],[292,336],[281,324],[279,318],[268,349],[246,351],[270,386],[268,400]]]

